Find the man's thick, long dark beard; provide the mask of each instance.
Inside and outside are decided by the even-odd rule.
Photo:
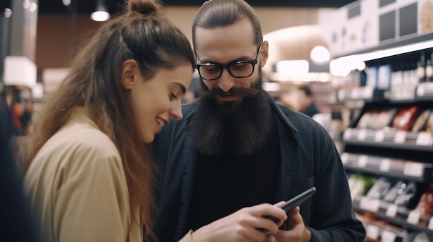
[[[202,93],[187,122],[189,132],[202,154],[249,155],[261,150],[270,136],[273,112],[270,95],[259,79],[250,89],[233,89],[243,94],[241,103],[216,102],[219,88]]]

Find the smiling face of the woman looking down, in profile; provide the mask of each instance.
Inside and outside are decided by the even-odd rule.
[[[170,119],[182,119],[182,97],[192,81],[192,67],[185,63],[172,70],[160,69],[147,80],[137,67],[131,79],[126,86],[123,83],[131,90],[131,105],[141,130],[141,141],[150,143]]]

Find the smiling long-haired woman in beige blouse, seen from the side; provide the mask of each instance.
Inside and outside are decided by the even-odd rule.
[[[24,141],[24,187],[46,241],[151,236],[144,143],[181,119],[194,57],[155,1],[129,0],[98,30]],[[144,234],[143,234],[144,229]]]

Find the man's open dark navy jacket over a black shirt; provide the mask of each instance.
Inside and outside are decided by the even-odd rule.
[[[272,106],[282,159],[275,201],[287,201],[315,186],[315,195],[300,206],[312,241],[363,241],[365,229],[353,214],[344,167],[328,132],[300,112],[274,102]],[[178,241],[189,229],[185,223],[197,151],[185,130],[192,115],[194,104],[183,105],[183,119],[164,126],[152,143],[160,169],[154,221],[154,232],[160,242]],[[223,199],[221,202],[225,202],[226,198]]]

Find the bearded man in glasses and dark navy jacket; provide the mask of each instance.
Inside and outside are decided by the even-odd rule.
[[[169,123],[153,143],[159,241],[188,231],[197,238],[235,234],[243,208],[259,219],[252,212],[257,205],[313,186],[317,192],[288,214],[284,230],[259,241],[363,241],[331,137],[262,88],[268,42],[254,10],[243,0],[207,1],[194,17],[192,41],[201,97],[184,105],[183,120]]]

